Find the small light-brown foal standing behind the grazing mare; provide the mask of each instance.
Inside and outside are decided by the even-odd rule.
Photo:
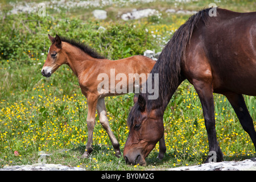
[[[75,42],[74,40],[60,38],[58,35],[56,35],[55,38],[48,35],[48,38],[51,40],[52,45],[49,47],[47,60],[42,69],[42,75],[49,77],[60,67],[60,65],[67,64],[78,77],[82,94],[87,98],[88,114],[86,123],[88,127],[88,141],[82,157],[88,157],[90,152],[92,152],[96,109],[98,111],[100,123],[108,133],[113,144],[115,155],[121,156],[119,142],[114,137],[109,126],[108,117],[106,116],[104,97],[128,93],[130,92],[130,86],[132,86],[133,90],[131,91],[133,92],[136,86],[141,86],[142,82],[140,82],[140,85],[135,85],[135,80],[138,79],[136,76],[134,79],[127,80],[127,88],[121,88],[125,84],[121,86],[119,85],[119,88],[121,88],[122,91],[123,89],[126,89],[125,92],[121,93],[120,90],[113,88],[117,85],[117,81],[112,85],[110,85],[110,82],[107,82],[109,85],[100,85],[102,77],[98,76],[103,74],[109,76],[109,78],[113,76],[116,78],[118,73],[125,74],[126,76],[135,73],[138,73],[138,75],[143,73],[147,75],[153,68],[155,61],[146,56],[132,56],[121,60],[111,61],[104,59],[104,57],[98,55],[93,49],[79,42]],[[110,69],[112,70],[112,73]],[[145,82],[146,79],[147,77],[144,80]],[[99,85],[100,87],[98,88]],[[109,89],[106,90],[105,86]]]

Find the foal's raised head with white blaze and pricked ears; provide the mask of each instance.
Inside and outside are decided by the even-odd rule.
[[[53,38],[48,34],[48,38],[51,40],[52,45],[49,47],[46,63],[42,68],[42,75],[45,77],[50,77],[66,61],[64,53],[61,52],[62,43],[60,37],[56,35]]]

